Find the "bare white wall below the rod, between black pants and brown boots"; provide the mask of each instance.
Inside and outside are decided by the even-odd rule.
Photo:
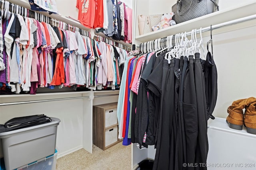
[[[218,71],[213,114],[226,118],[233,101],[256,97],[256,21],[254,26],[214,35],[213,49]]]

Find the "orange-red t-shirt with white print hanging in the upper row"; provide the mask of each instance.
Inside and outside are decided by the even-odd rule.
[[[95,18],[95,0],[77,0],[78,20],[88,28],[92,28]]]

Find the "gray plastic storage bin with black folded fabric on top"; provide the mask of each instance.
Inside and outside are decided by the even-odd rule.
[[[6,170],[16,169],[55,153],[60,119],[51,119],[49,123],[0,133]]]

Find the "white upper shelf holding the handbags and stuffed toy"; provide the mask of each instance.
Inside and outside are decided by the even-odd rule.
[[[167,37],[168,35],[174,35],[176,33],[191,31],[192,29],[200,29],[200,27],[202,28],[208,27],[210,25],[215,25],[218,23],[223,23],[223,22],[235,20],[238,18],[243,18],[246,16],[254,15],[254,14],[256,14],[255,2],[246,4],[244,6],[235,6],[225,10],[220,10],[205,16],[195,18],[193,20],[185,21],[185,22],[170,26],[165,29],[160,29],[158,31],[136,36],[135,39],[136,41],[140,41],[138,43],[143,43],[146,41]]]

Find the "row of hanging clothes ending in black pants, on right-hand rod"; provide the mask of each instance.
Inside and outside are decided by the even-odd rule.
[[[207,120],[216,104],[217,71],[209,52],[206,60],[198,52],[166,55],[150,52],[126,59],[117,108],[118,137],[123,145],[154,145],[154,170],[206,163]]]

